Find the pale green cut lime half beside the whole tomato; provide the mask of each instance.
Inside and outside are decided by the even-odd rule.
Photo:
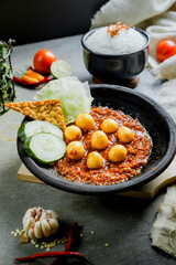
[[[57,60],[52,63],[51,73],[55,78],[61,78],[61,77],[65,77],[65,76],[70,76],[72,68],[67,62]]]

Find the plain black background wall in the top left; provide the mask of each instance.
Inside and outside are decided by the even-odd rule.
[[[0,40],[32,43],[88,31],[108,0],[0,0]]]

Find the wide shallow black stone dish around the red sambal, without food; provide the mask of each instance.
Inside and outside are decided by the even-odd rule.
[[[92,106],[108,106],[130,114],[133,118],[138,118],[151,135],[153,150],[142,172],[131,180],[112,186],[74,183],[55,174],[50,168],[37,165],[25,153],[23,142],[18,138],[18,151],[26,168],[52,187],[80,194],[122,192],[144,184],[161,174],[172,162],[176,151],[176,126],[168,113],[150,97],[125,87],[90,85],[90,91],[94,97]],[[24,118],[23,123],[29,120]]]

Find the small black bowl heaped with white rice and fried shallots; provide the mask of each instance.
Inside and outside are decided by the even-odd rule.
[[[81,39],[86,68],[102,83],[128,84],[145,68],[148,43],[145,31],[127,24],[91,30]]]

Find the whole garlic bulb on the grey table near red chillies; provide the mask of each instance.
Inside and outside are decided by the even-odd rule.
[[[58,213],[41,206],[29,209],[22,220],[23,229],[32,240],[50,236],[58,230]]]

